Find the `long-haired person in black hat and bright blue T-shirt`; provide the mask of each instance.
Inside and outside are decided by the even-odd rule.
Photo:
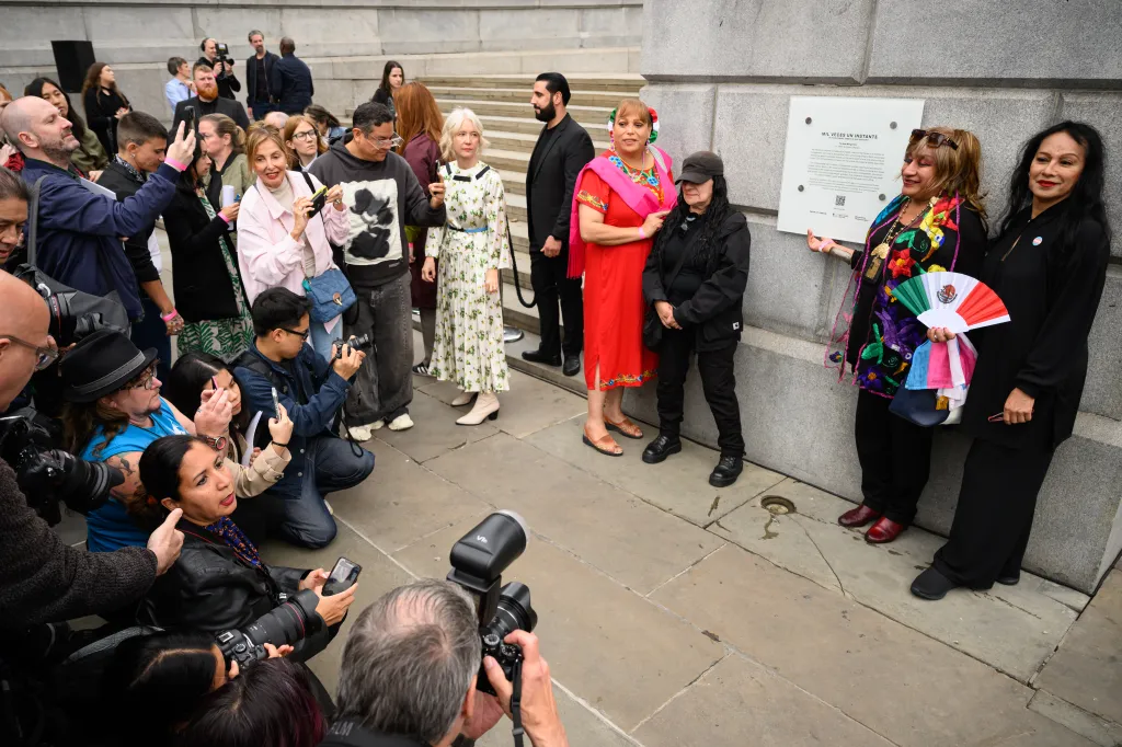
[[[86,546],[111,552],[144,546],[148,532],[129,516],[126,501],[142,495],[137,465],[156,439],[190,433],[217,444],[232,408],[224,389],[203,394],[194,421],[159,396],[155,348],[139,350],[125,334],[99,330],[82,339],[62,361],[63,426],[67,451],[105,462],[125,473],[112,498],[86,516]],[[224,445],[224,444],[223,444]]]

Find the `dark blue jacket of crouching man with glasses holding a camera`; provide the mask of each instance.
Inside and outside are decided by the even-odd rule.
[[[269,371],[268,377],[264,375],[265,370]],[[304,482],[304,450],[307,441],[315,436],[339,437],[332,431],[332,425],[347,400],[350,384],[335,374],[312,350],[312,345],[304,345],[300,354],[288,361],[288,366],[282,366],[263,356],[257,350],[256,341],[236,361],[233,375],[238,377],[243,400],[249,403],[249,412],[263,412],[263,417],[276,416],[272,389],[274,386],[277,388],[277,399],[288,411],[293,423],[292,439],[288,441],[292,461],[284,470],[284,478],[269,490],[286,497],[298,497]],[[264,422],[258,424],[258,432],[264,425]],[[267,433],[267,428],[265,432]]]

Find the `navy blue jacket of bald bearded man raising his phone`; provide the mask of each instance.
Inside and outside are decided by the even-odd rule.
[[[144,233],[156,222],[175,196],[180,173],[163,164],[121,202],[90,192],[77,175],[44,160],[28,158],[22,177],[28,184],[45,177],[36,266],[76,290],[99,296],[117,290],[129,319],[140,319],[140,292],[121,238]]]

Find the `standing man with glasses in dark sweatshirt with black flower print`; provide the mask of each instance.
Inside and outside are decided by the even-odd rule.
[[[347,278],[358,303],[343,315],[348,335],[369,334],[373,360],[358,372],[347,403],[347,425],[359,441],[388,424],[413,426],[413,304],[410,295],[405,224],[444,224],[444,184],[429,185],[425,197],[408,163],[394,148],[394,117],[385,104],[367,102],[355,110],[352,139],[337,142],[309,172],[328,187],[339,184],[350,211],[343,247]]]

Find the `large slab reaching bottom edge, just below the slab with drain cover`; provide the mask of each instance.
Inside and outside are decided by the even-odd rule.
[[[1057,726],[1026,709],[1028,688],[735,545],[651,598],[898,745],[1004,745]]]

